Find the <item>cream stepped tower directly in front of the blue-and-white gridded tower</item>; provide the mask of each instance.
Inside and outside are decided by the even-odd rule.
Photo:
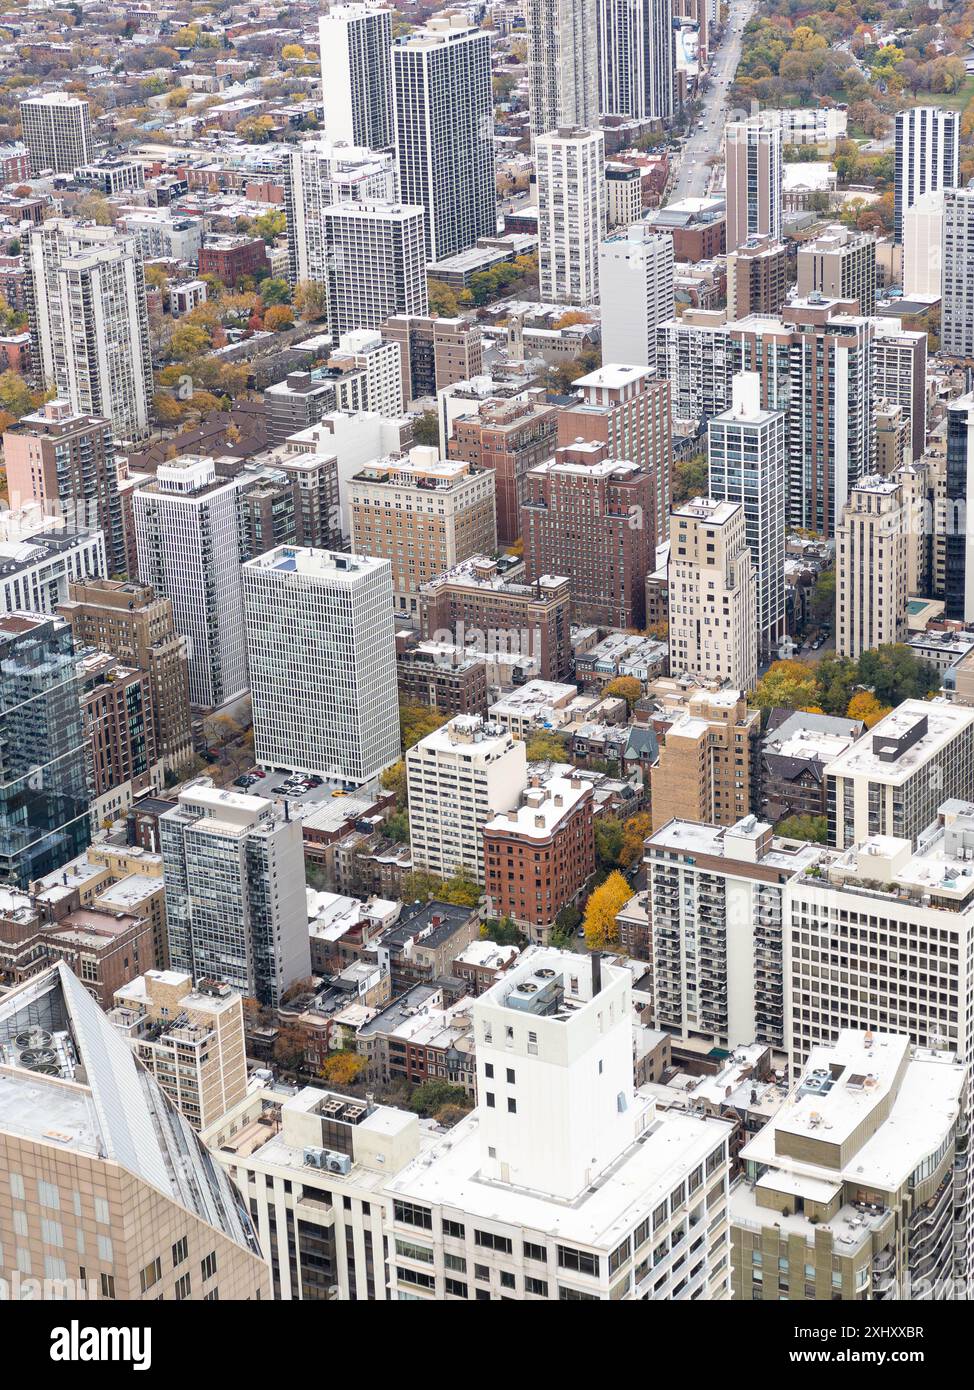
[[[757,680],[757,571],[739,502],[693,498],[670,520],[670,671],[727,681]]]

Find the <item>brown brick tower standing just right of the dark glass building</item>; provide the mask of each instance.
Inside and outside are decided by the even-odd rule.
[[[186,638],[176,632],[172,602],[145,584],[82,580],[68,587],[58,613],[76,646],[94,646],[149,677],[156,749],[167,771],[192,758]]]

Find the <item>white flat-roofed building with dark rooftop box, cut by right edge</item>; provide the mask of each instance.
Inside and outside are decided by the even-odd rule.
[[[903,701],[825,764],[829,845],[881,835],[916,847],[942,802],[968,795],[973,769],[974,709]]]

